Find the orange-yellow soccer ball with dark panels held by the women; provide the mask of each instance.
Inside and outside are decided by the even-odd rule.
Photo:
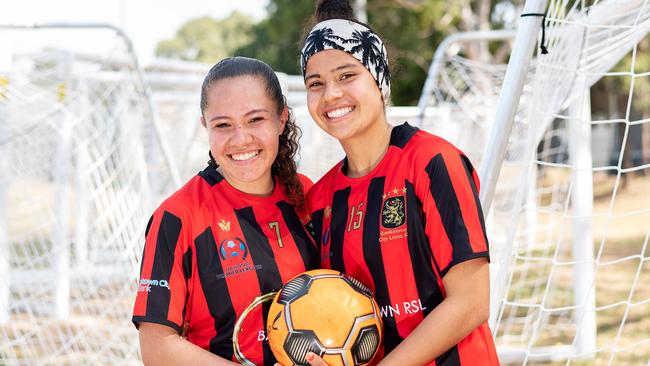
[[[370,290],[325,269],[287,282],[271,303],[266,327],[269,346],[284,366],[308,365],[309,351],[331,366],[365,365],[382,338],[381,316]]]

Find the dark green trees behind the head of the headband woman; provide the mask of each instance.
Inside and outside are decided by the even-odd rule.
[[[494,26],[490,19],[499,4],[521,0],[368,0],[369,24],[387,44],[391,58],[391,98],[395,105],[415,105],[438,44],[452,32]],[[277,71],[300,74],[298,43],[311,18],[314,0],[270,0],[268,17],[253,27],[253,41],[236,52],[267,62]],[[496,22],[496,28],[503,27]],[[308,30],[307,30],[308,31]],[[361,35],[360,35],[361,36]],[[478,58],[487,48],[468,48]],[[493,51],[493,50],[489,50]],[[503,58],[507,52],[500,51]]]

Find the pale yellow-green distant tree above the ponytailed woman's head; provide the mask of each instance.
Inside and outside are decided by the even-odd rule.
[[[193,19],[183,24],[173,39],[161,41],[156,55],[182,60],[216,63],[232,56],[252,41],[253,20],[233,12],[223,20],[211,17]]]

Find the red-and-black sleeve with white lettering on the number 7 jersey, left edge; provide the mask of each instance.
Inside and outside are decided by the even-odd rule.
[[[181,332],[191,273],[188,225],[181,216],[161,207],[147,225],[132,318],[136,328],[151,322]]]

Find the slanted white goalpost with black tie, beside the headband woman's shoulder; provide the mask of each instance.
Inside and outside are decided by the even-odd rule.
[[[523,13],[544,13],[546,3],[546,0],[528,0],[524,4]],[[533,50],[537,45],[537,34],[541,23],[541,17],[529,16],[519,19],[519,28],[512,47],[512,55],[508,62],[503,87],[497,102],[494,124],[490,130],[490,137],[479,168],[481,178],[480,198],[485,217],[488,216],[496,183],[501,172],[512,124],[526,80],[528,65],[533,56]]]

